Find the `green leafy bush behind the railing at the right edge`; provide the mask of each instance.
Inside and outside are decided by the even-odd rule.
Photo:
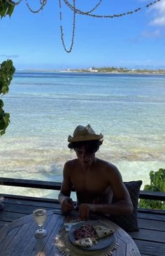
[[[165,169],[159,169],[157,172],[150,172],[150,185],[145,185],[144,191],[165,192]],[[160,200],[141,199],[139,207],[147,209],[165,210],[165,202]]]

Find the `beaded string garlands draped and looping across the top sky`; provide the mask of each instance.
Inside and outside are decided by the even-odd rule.
[[[28,0],[25,0],[25,1],[26,1],[26,4],[27,4],[27,7],[29,8],[29,11],[31,11],[32,13],[38,13],[39,11],[43,10],[43,8],[47,4],[48,0],[39,0],[41,6],[36,11],[32,10],[32,8],[29,6]],[[75,28],[76,28],[76,14],[88,15],[89,17],[92,17],[92,18],[119,18],[119,17],[122,17],[124,15],[130,15],[130,14],[137,13],[138,11],[142,10],[142,8],[139,7],[139,8],[134,9],[133,11],[127,11],[125,13],[117,13],[117,14],[113,14],[113,15],[96,15],[96,14],[92,14],[92,12],[95,11],[96,8],[99,7],[102,0],[99,0],[98,3],[94,6],[94,8],[92,8],[90,11],[86,11],[86,12],[81,11],[80,9],[76,8],[76,0],[73,0],[73,5],[71,5],[68,0],[63,0],[63,1],[64,1],[64,4],[66,4],[66,6],[68,6],[71,9],[71,11],[73,11],[73,26],[72,26],[71,46],[68,50],[68,49],[66,49],[66,45],[65,45],[65,42],[64,42],[64,30],[63,30],[63,27],[62,27],[62,0],[59,0],[59,20],[61,22],[61,25],[60,25],[61,39],[62,39],[62,45],[64,47],[64,50],[67,53],[70,53],[73,49],[74,37],[75,37]],[[145,8],[148,8],[148,7],[150,7],[154,4],[157,4],[157,2],[159,2],[159,1],[162,1],[162,0],[152,1],[152,2],[150,2],[150,4],[146,4]],[[12,0],[6,0],[6,2],[8,4],[12,5],[12,6],[16,6],[16,5],[20,4],[22,2],[22,0],[19,0],[17,2],[13,2]]]

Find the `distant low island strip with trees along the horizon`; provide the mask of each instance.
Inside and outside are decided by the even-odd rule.
[[[129,68],[68,68],[66,70],[56,70],[56,69],[24,69],[24,70],[17,70],[23,72],[98,72],[98,73],[129,73],[129,74],[160,74],[165,75],[165,70],[158,69],[158,70],[148,70],[148,69],[129,69]]]

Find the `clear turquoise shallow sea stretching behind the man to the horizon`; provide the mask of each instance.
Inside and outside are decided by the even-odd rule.
[[[96,156],[117,165],[124,181],[144,186],[150,170],[165,167],[165,75],[16,72],[2,99],[10,126],[0,138],[0,177],[62,181],[64,162],[76,157],[67,138],[78,124],[102,132]]]

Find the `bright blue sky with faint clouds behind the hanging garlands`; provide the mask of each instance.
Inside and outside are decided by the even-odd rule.
[[[73,4],[72,0],[68,0]],[[31,8],[39,0],[28,0]],[[91,10],[99,0],[76,0],[76,8]],[[145,8],[146,0],[102,0],[92,14],[113,15],[141,11],[120,18],[92,18],[76,14],[71,53],[62,46],[59,1],[48,0],[40,13],[31,13],[26,1],[15,7],[11,18],[0,20],[0,63],[12,58],[17,69],[94,67],[165,69],[165,0]],[[66,48],[71,44],[73,12],[62,0],[62,25]]]

